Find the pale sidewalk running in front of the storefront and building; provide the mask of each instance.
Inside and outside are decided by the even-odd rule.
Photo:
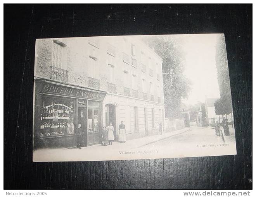
[[[126,143],[113,142],[112,146],[93,146],[77,148],[46,148],[33,152],[33,161],[97,161],[97,160],[129,160],[140,159],[140,155],[121,155],[122,151],[140,150],[143,146],[156,143],[171,136],[185,133],[190,128],[170,131],[162,135],[145,136],[143,138],[130,139]],[[153,144],[152,144],[153,145]]]

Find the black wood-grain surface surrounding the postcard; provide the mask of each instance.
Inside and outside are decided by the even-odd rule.
[[[194,33],[225,33],[237,155],[32,162],[36,38]],[[252,5],[4,5],[4,189],[252,189],[252,114]]]

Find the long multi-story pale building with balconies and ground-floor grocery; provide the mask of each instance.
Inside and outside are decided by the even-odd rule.
[[[34,146],[100,142],[124,121],[127,139],[164,129],[162,59],[134,36],[37,39]]]

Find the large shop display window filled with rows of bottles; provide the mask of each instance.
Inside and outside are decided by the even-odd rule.
[[[74,100],[43,97],[40,137],[74,134]]]

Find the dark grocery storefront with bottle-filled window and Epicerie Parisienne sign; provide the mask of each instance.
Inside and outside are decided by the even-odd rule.
[[[100,143],[105,96],[102,91],[36,80],[34,149]]]

